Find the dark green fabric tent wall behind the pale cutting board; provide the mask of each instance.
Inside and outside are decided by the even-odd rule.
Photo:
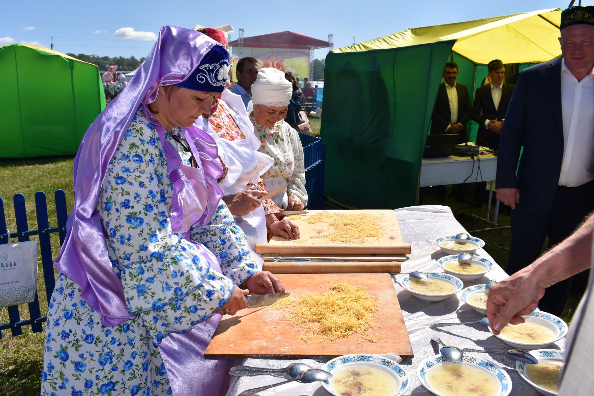
[[[326,56],[324,193],[342,205],[414,202],[425,133],[454,41]],[[330,93],[328,95],[328,93]]]

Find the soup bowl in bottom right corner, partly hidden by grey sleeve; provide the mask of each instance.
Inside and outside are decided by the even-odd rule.
[[[558,395],[565,366],[565,351],[536,349],[530,351],[538,365],[516,362],[516,370],[528,384],[543,395]]]

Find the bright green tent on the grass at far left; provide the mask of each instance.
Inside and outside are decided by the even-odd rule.
[[[96,65],[47,48],[0,47],[0,158],[75,154],[105,109]]]

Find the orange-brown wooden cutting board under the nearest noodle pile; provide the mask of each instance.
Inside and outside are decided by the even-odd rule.
[[[264,311],[264,307],[243,309],[233,316],[223,316],[204,356],[299,359],[314,356],[342,356],[350,353],[397,353],[413,356],[392,278],[388,274],[283,274],[278,275],[286,291],[293,294],[323,293],[331,284],[343,281],[365,287],[377,299],[380,310],[373,337],[377,343],[363,341],[353,334],[337,341],[323,341],[316,336],[305,342],[296,337],[302,329],[280,319],[286,311]],[[382,328],[378,328],[381,325]]]

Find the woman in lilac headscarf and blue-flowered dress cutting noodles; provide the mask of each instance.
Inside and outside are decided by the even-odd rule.
[[[220,200],[216,144],[191,126],[228,68],[222,45],[163,27],[87,130],[55,263],[42,395],[217,395],[226,361],[204,350],[220,313],[245,308],[248,290],[284,291]]]

